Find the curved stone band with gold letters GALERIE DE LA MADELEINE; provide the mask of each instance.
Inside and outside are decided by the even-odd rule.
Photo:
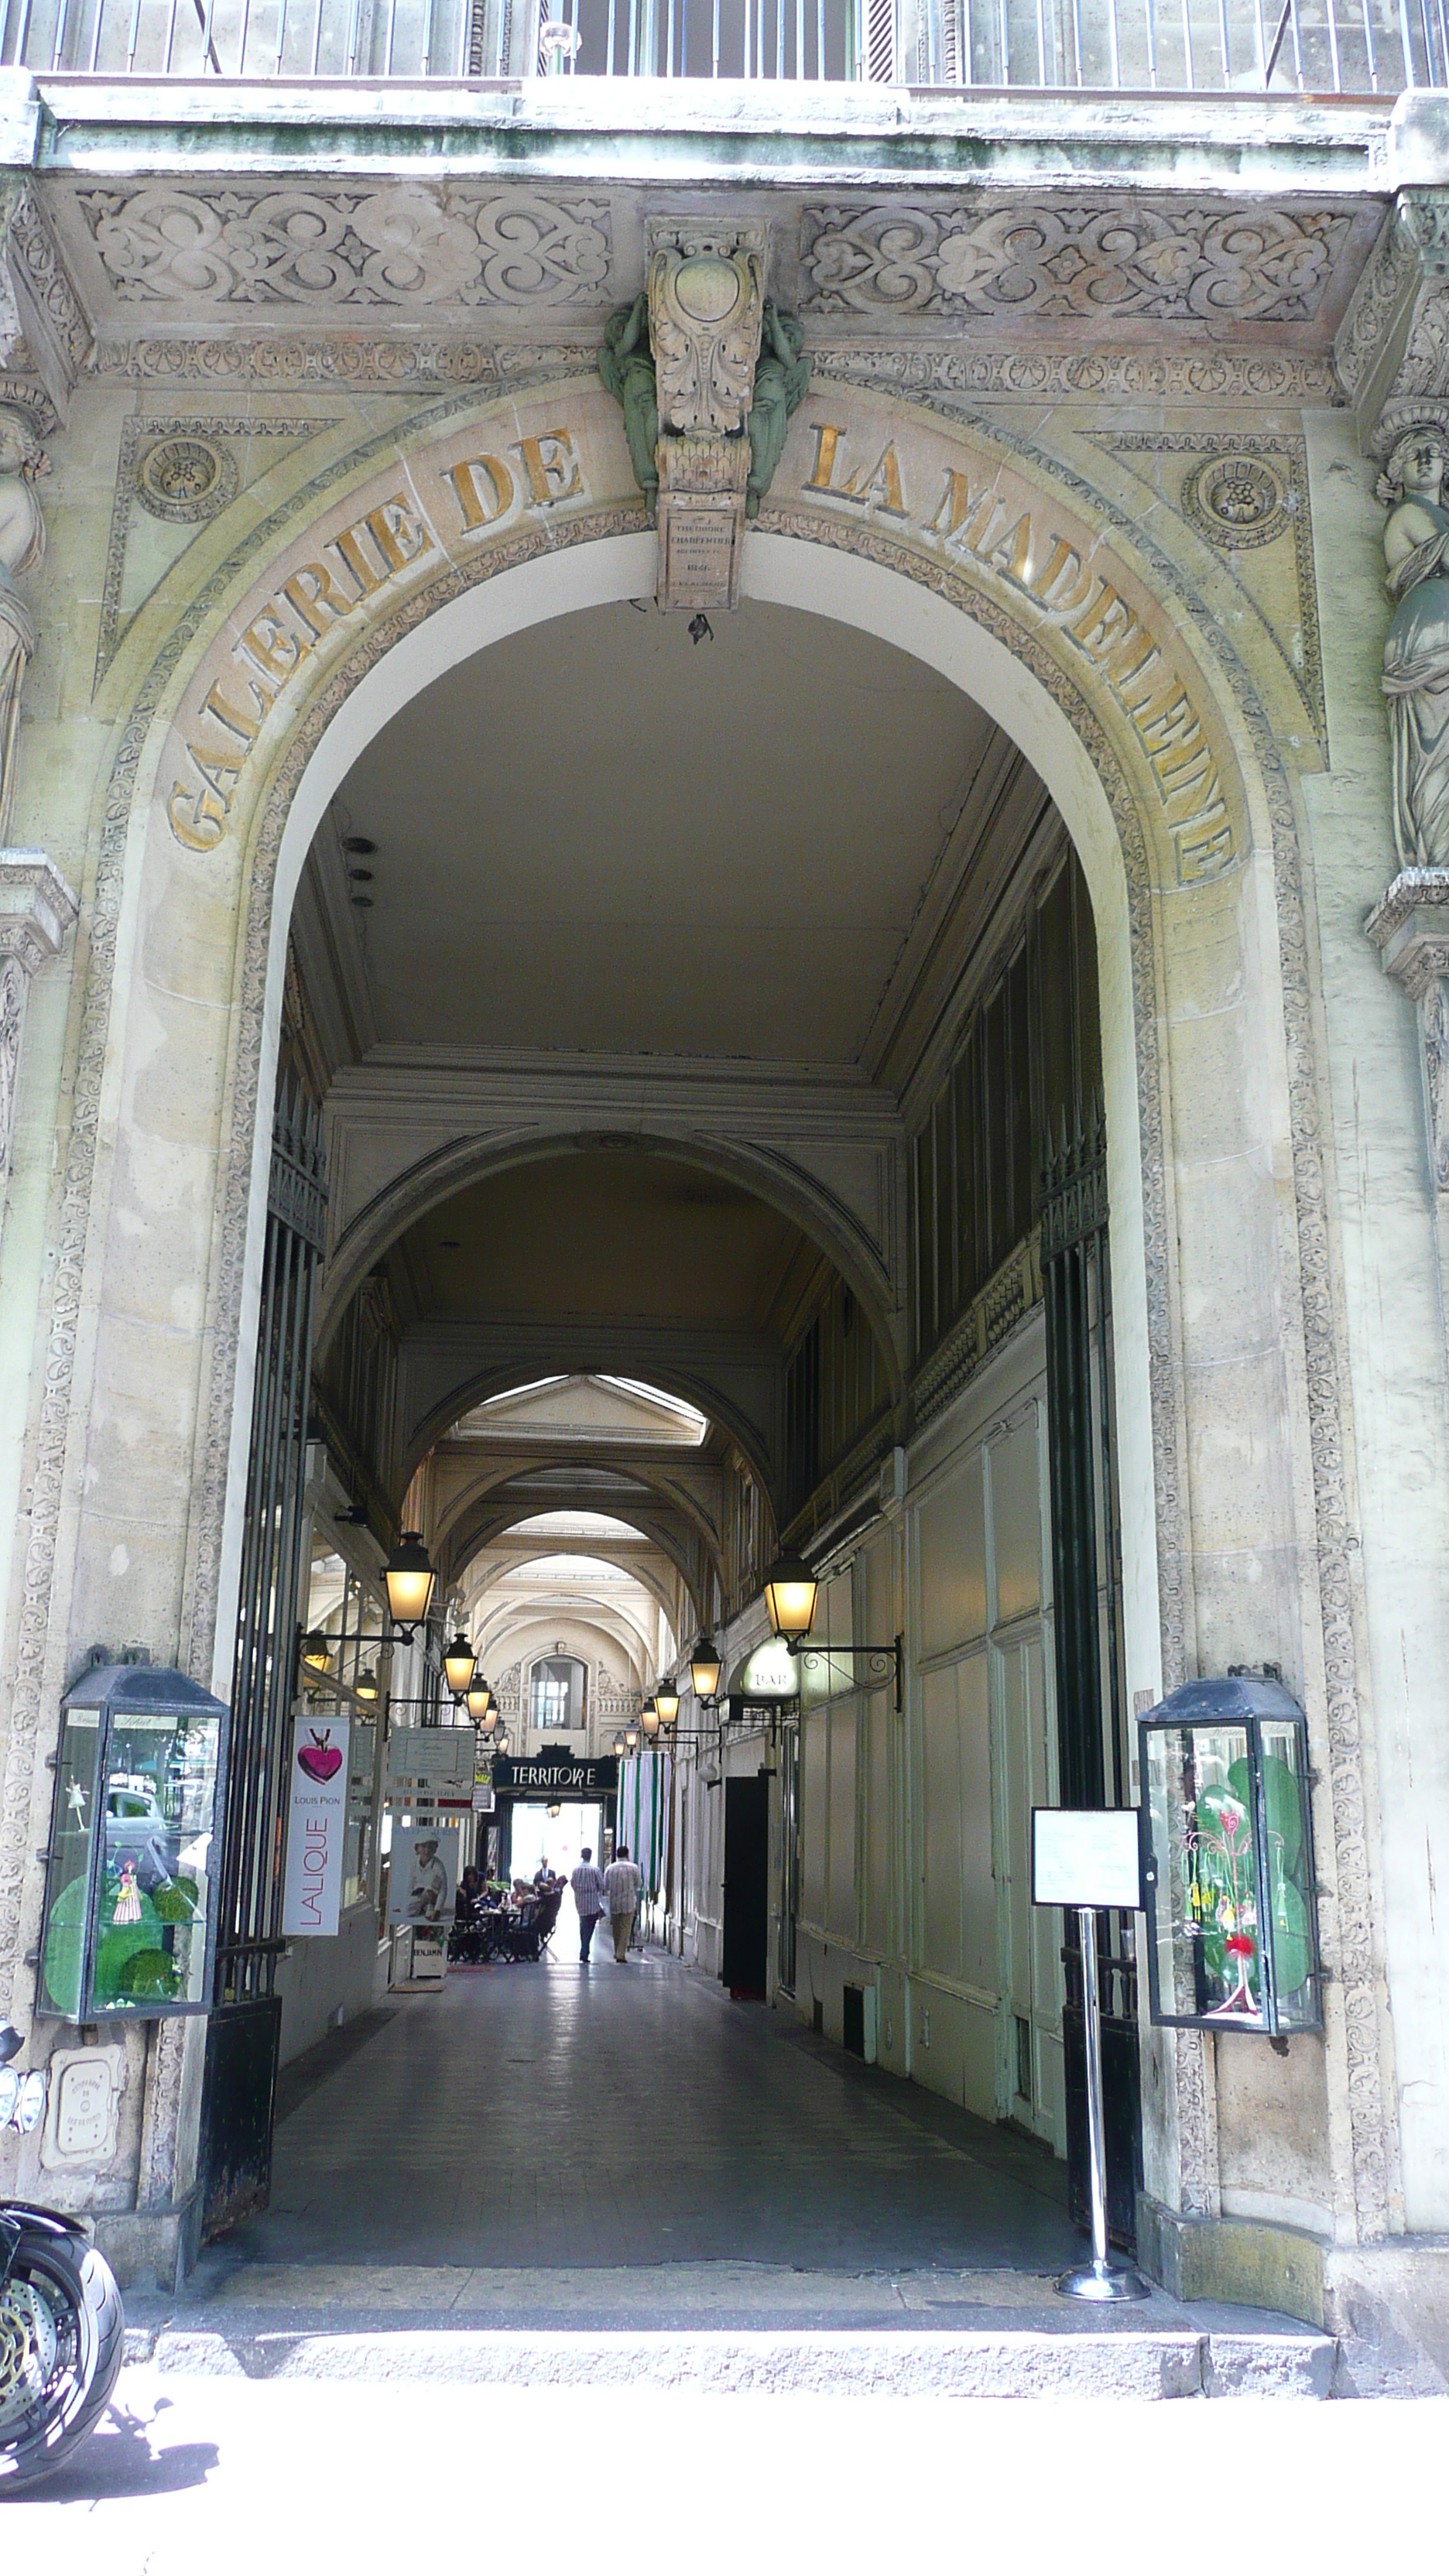
[[[508,438],[521,407],[511,420],[451,428],[299,528],[178,708],[162,804],[183,848],[204,853],[224,840],[273,711],[410,587],[529,520],[549,528],[639,510],[642,533],[616,404],[583,386],[547,397],[559,399],[567,417],[539,402],[529,417],[549,425],[526,435]],[[869,526],[1011,603],[1127,724],[1178,878],[1217,876],[1243,853],[1243,791],[1194,649],[1101,528],[1042,482],[1042,469],[1036,461],[1029,474],[982,435],[833,386],[797,412],[766,518],[779,515],[792,536],[802,510],[822,528]],[[712,531],[688,520],[678,538],[704,549],[704,577]]]

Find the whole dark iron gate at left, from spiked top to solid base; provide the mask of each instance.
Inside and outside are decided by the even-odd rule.
[[[201,2233],[266,2208],[281,1996],[281,1775],[294,1692],[312,1309],[325,1247],[322,1113],[284,1082],[271,1128],[266,1260],[232,1672],[217,1991],[201,2094]]]

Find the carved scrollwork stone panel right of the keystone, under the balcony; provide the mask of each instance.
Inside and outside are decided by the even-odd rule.
[[[1312,322],[1348,247],[1341,206],[1073,198],[810,206],[804,314],[1080,322]]]

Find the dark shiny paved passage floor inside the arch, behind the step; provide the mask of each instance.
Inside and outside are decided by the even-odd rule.
[[[1080,2249],[1044,2151],[660,1953],[389,2007],[286,2071],[248,2264],[1042,2277]]]

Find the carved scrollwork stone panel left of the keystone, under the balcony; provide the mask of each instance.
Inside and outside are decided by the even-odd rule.
[[[183,188],[75,198],[98,301],[178,319],[271,312],[596,309],[608,301],[601,198],[436,185]]]

